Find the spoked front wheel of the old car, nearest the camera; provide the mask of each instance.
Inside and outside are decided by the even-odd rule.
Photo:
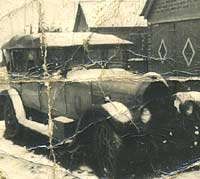
[[[117,171],[118,154],[121,148],[120,137],[107,122],[102,122],[94,130],[94,155],[97,159],[97,172],[101,176],[114,177]]]

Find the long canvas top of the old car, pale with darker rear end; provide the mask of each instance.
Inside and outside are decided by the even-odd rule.
[[[47,47],[70,47],[83,44],[89,45],[122,45],[133,44],[115,35],[92,32],[45,33]],[[14,36],[2,46],[2,49],[40,48],[42,34]]]

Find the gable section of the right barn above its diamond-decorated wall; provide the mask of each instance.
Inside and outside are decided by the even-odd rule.
[[[148,17],[150,23],[200,18],[199,0],[157,0]]]

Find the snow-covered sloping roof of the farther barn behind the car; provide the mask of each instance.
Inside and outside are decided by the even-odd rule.
[[[80,2],[88,27],[146,27],[140,16],[146,0]]]

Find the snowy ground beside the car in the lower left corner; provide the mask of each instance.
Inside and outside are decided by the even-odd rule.
[[[0,175],[6,179],[53,179],[53,162],[6,140],[3,137],[4,130],[4,122],[0,121]],[[55,179],[97,178],[88,172],[90,170],[87,167],[83,168],[84,171],[70,172],[56,164]]]

